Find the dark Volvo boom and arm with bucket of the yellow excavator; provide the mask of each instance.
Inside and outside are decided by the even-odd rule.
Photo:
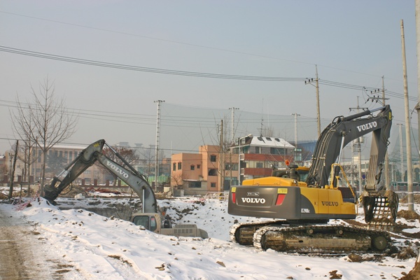
[[[373,116],[372,113],[377,111],[379,111],[377,115]],[[372,132],[367,178],[364,191],[360,194],[365,210],[365,221],[371,228],[392,227],[398,211],[398,195],[392,190],[387,190],[382,176],[391,123],[392,112],[389,105],[352,116],[335,118],[323,130],[316,143],[307,177],[307,185],[311,187],[324,188],[328,184],[328,179],[333,180],[332,186],[336,186],[338,168],[337,172],[333,170],[334,176],[330,176],[332,164],[337,158],[339,163],[342,149],[346,144]]]

